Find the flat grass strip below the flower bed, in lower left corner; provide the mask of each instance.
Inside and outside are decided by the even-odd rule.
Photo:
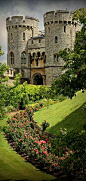
[[[54,180],[55,177],[39,171],[18,155],[8,144],[1,128],[5,119],[0,120],[0,180]]]

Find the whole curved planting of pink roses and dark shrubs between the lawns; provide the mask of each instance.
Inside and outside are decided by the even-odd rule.
[[[86,178],[86,132],[73,133],[60,129],[60,134],[54,140],[44,135],[40,136],[30,117],[33,109],[26,108],[7,120],[4,131],[8,138],[15,143],[16,151],[25,153],[30,159],[36,159],[42,167],[58,172],[77,175]],[[46,121],[44,123],[47,124]]]

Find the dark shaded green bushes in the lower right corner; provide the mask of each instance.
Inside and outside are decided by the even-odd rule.
[[[65,173],[71,173],[82,180],[86,179],[86,131],[81,133],[76,131],[62,134],[52,140],[52,152],[55,155],[62,156],[70,150],[71,155],[61,163],[61,168]]]

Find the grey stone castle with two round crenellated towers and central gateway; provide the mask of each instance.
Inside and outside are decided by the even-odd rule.
[[[39,30],[39,20],[25,16],[6,19],[8,33],[7,72],[10,79],[22,74],[21,82],[35,85],[51,85],[61,75],[64,65],[58,56],[60,49],[74,48],[78,21],[72,21],[73,13],[66,10],[44,14],[45,33]]]

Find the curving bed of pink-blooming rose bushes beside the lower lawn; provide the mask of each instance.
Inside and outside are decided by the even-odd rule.
[[[55,156],[51,153],[51,143],[48,138],[38,134],[36,128],[32,128],[33,122],[31,116],[33,109],[26,109],[24,112],[15,114],[11,119],[7,120],[4,131],[14,149],[21,154],[27,156],[31,161],[33,158],[40,162],[40,166],[47,167],[47,171],[57,172],[60,169],[62,160],[68,157]]]

